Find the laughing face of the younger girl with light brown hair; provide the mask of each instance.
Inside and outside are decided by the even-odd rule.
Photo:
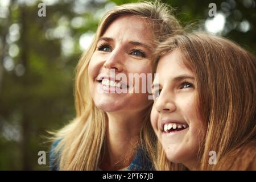
[[[159,90],[151,111],[151,124],[170,162],[195,166],[202,121],[196,110],[195,76],[185,67],[180,51],[163,56],[158,63]],[[159,96],[157,96],[159,93]]]

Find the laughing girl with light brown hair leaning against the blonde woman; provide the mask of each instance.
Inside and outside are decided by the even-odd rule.
[[[156,168],[255,170],[255,56],[202,33],[169,38],[156,54]]]

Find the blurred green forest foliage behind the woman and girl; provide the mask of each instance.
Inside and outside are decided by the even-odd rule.
[[[41,1],[0,3],[0,169],[48,170],[38,164],[38,152],[48,151],[46,131],[60,129],[75,117],[74,71],[102,15],[114,5],[137,2]],[[51,4],[49,4],[51,2]],[[208,5],[225,15],[218,32],[255,53],[254,0],[170,0],[181,23],[204,30]]]

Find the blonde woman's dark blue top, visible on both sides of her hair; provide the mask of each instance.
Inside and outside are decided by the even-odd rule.
[[[49,168],[51,171],[59,170],[59,159],[54,153],[54,149],[59,144],[60,140],[53,142],[49,155]],[[154,167],[150,160],[148,160],[147,155],[140,148],[137,150],[136,156],[127,167],[126,171],[152,171]]]

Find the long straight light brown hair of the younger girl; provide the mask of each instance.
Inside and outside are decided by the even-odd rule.
[[[255,56],[228,39],[198,32],[176,35],[160,44],[154,69],[163,55],[175,50],[196,78],[197,111],[205,125],[199,169],[255,169]],[[209,164],[210,151],[217,154],[216,165]],[[185,166],[169,162],[158,143],[156,169]]]

